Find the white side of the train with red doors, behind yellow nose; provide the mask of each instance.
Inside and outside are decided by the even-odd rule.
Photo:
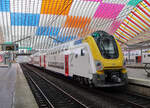
[[[32,63],[65,76],[75,75],[92,79],[93,74],[96,73],[96,67],[88,44],[75,45],[69,49],[59,54],[53,54],[55,51],[50,50],[45,55],[32,57]]]

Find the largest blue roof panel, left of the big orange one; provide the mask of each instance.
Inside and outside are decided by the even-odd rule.
[[[11,25],[14,26],[38,26],[40,14],[11,13]]]

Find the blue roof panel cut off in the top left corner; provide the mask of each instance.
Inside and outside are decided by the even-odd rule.
[[[10,0],[0,0],[0,11],[2,12],[10,11]]]

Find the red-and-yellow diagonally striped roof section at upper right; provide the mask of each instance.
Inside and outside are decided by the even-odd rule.
[[[143,0],[133,8],[121,23],[114,36],[122,42],[150,29],[150,1]]]

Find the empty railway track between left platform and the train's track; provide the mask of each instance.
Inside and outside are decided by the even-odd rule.
[[[22,69],[40,108],[88,108],[27,66]]]

